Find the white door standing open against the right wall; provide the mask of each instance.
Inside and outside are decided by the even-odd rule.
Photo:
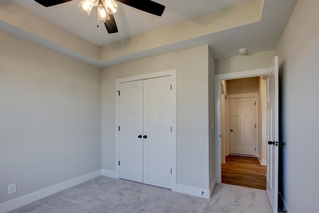
[[[278,212],[278,141],[279,141],[278,56],[267,77],[267,181],[266,188],[273,212]]]

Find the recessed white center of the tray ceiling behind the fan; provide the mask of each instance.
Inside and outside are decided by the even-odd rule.
[[[249,0],[154,0],[165,5],[162,16],[118,2],[119,8],[114,17],[119,32],[114,34],[108,34],[102,21],[99,22],[100,27],[98,28],[96,7],[88,16],[77,6],[80,0],[72,0],[50,7],[44,7],[34,0],[11,1],[97,46],[105,46]]]

